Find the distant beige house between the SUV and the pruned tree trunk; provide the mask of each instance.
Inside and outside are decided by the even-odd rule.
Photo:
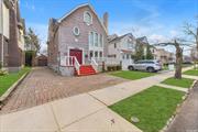
[[[175,63],[175,54],[165,51],[164,48],[152,48],[152,54],[154,56],[154,59],[160,61],[163,65],[168,63]]]

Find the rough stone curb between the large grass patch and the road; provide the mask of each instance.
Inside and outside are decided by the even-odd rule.
[[[190,90],[194,88],[195,84],[198,82],[198,80],[194,80],[193,85],[190,86],[190,88],[188,89],[188,91],[182,97],[183,101],[177,105],[175,112],[173,113],[173,116],[167,120],[165,127],[160,131],[160,132],[166,132],[166,130],[168,129],[168,127],[174,122],[176,116],[180,112],[180,108],[183,107],[183,105],[185,103],[186,99],[188,98]]]

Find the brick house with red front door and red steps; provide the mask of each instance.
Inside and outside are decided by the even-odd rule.
[[[107,57],[107,36],[108,13],[100,20],[88,3],[51,19],[48,66],[64,76],[96,74],[101,67],[94,58]]]

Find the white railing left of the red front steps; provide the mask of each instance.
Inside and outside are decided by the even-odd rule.
[[[62,56],[61,66],[74,66],[79,75],[80,64],[75,56]]]

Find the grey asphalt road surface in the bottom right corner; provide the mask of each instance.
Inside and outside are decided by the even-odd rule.
[[[167,132],[198,132],[198,82]]]

